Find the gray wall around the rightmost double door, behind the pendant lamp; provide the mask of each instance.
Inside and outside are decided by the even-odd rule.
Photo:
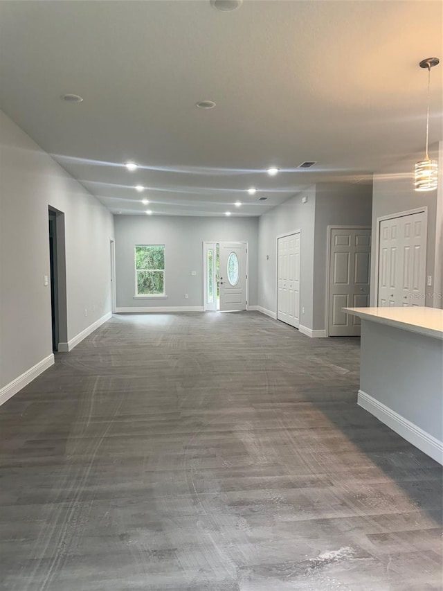
[[[441,145],[442,144],[440,143],[440,149]],[[439,145],[435,144],[431,146],[429,157],[431,159],[439,159]],[[383,169],[380,173],[374,174],[372,192],[372,248],[376,248],[377,218],[426,206],[428,208],[426,275],[431,275],[433,277],[433,285],[430,288],[426,288],[426,292],[430,297],[425,299],[425,305],[430,306],[431,308],[442,308],[442,204],[437,208],[437,195],[440,199],[443,197],[442,176],[440,174],[439,187],[436,191],[414,191],[414,166],[417,161],[422,159],[423,153],[417,152],[417,154],[411,155],[409,158],[398,161],[392,166]],[[441,155],[440,162],[442,162]],[[373,252],[371,262],[370,306],[377,306],[377,297],[375,293],[376,255],[377,254]],[[435,285],[436,274],[437,285]]]

